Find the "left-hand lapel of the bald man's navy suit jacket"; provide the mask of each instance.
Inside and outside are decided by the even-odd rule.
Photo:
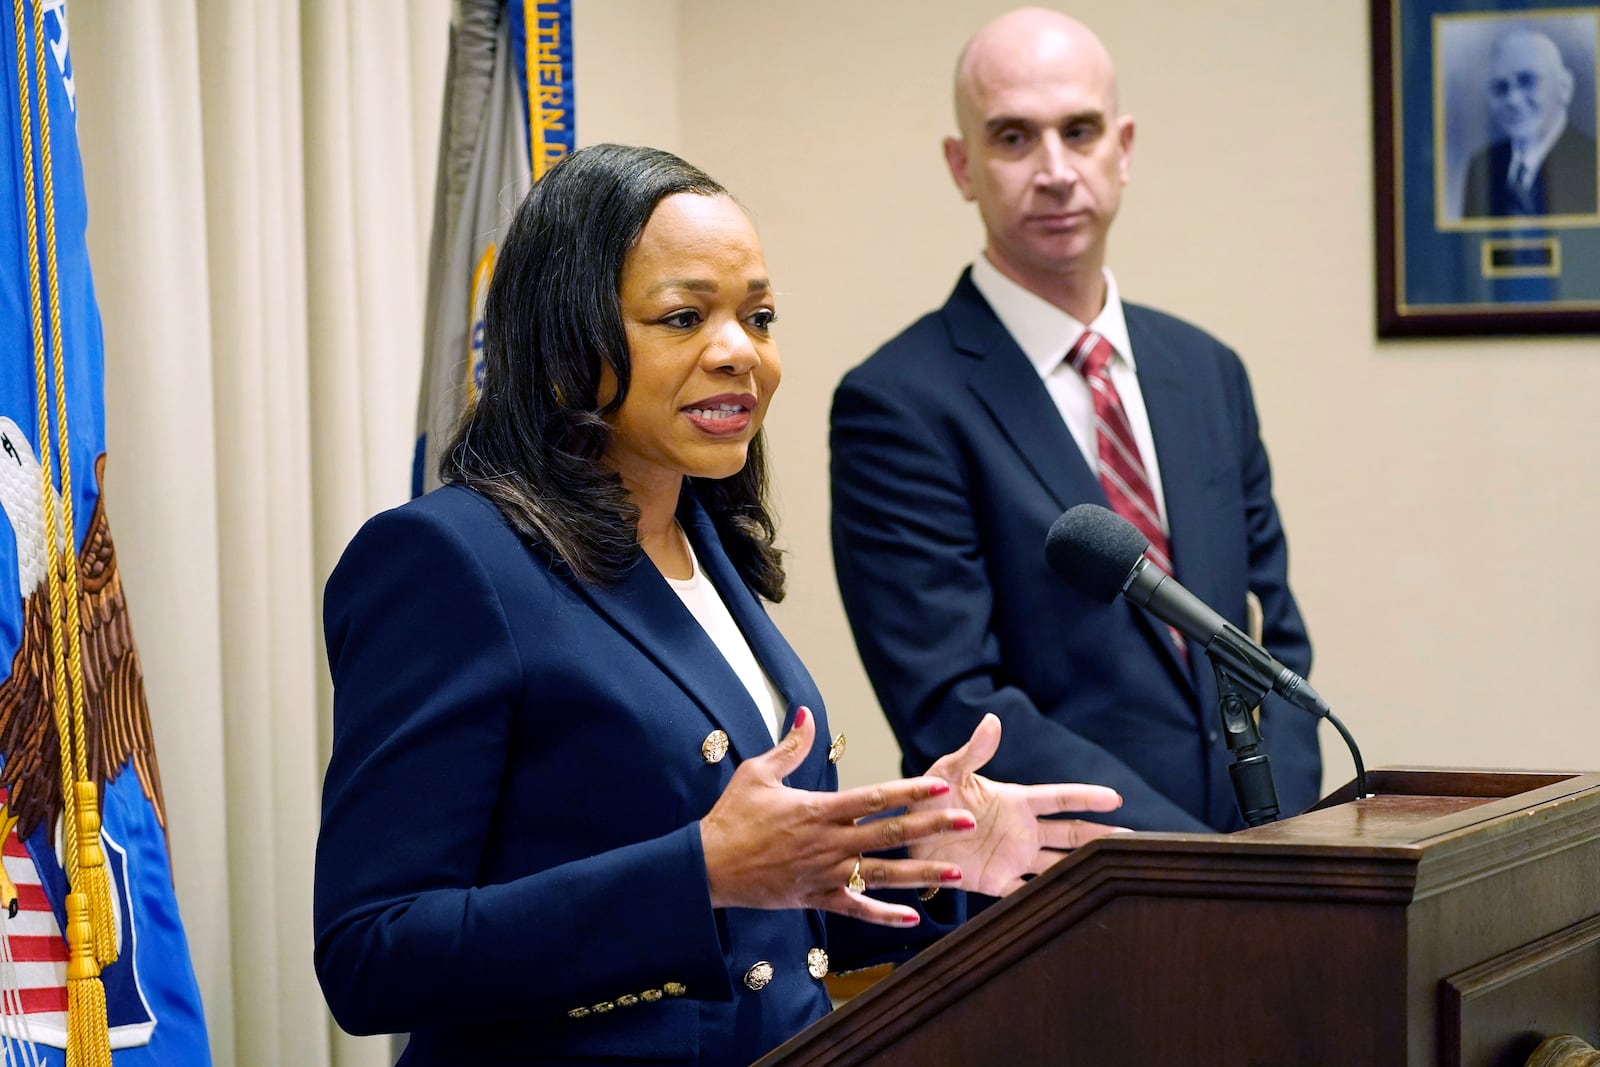
[[[955,349],[974,360],[968,387],[1061,510],[1083,501],[1106,504],[1099,478],[1083,462],[1050,390],[995,318],[970,270],[946,301],[944,317]]]

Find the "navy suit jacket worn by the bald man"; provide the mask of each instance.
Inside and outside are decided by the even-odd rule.
[[[1240,627],[1254,590],[1264,643],[1306,673],[1243,365],[1170,315],[1126,306],[1126,320],[1178,581]],[[1110,785],[1125,803],[1101,817],[1133,829],[1243,825],[1206,657],[1186,667],[1158,622],[1045,563],[1061,512],[1106,494],[968,274],[845,376],[830,448],[840,593],[907,771],[995,712],[1005,734],[986,774]],[[1315,720],[1269,697],[1262,734],[1283,813],[1298,813],[1320,785]]]

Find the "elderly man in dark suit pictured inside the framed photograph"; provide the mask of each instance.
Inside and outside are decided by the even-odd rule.
[[[1595,141],[1568,122],[1574,77],[1555,42],[1507,30],[1488,72],[1498,138],[1467,163],[1461,218],[1594,214]]]

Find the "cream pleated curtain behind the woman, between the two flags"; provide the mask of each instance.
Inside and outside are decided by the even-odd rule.
[[[219,1065],[390,1062],[310,966],[318,613],[355,526],[408,491],[448,19],[70,5],[106,498]]]

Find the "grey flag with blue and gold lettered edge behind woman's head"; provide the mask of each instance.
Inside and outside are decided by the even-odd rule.
[[[483,298],[512,213],[576,147],[571,0],[459,0],[450,26],[434,189],[427,323],[411,493],[477,398]]]

